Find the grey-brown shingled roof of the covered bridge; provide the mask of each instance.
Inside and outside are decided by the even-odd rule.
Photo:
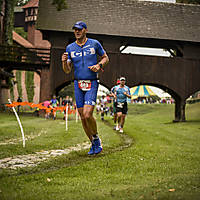
[[[37,28],[72,32],[85,21],[88,33],[200,42],[200,6],[136,0],[73,0],[57,11],[39,2]]]

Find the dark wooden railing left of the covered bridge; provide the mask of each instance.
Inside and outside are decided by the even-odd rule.
[[[0,45],[0,62],[49,65],[50,49]]]

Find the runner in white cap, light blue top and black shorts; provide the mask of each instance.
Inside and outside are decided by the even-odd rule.
[[[123,133],[123,126],[125,123],[125,117],[128,111],[127,107],[127,97],[131,98],[130,88],[125,85],[126,79],[124,77],[120,78],[120,85],[116,86],[114,89],[114,97],[117,99],[116,110],[119,124],[119,131]]]

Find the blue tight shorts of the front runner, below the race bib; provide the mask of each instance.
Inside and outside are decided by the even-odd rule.
[[[88,91],[83,91],[78,86],[78,80],[74,80],[74,93],[77,108],[83,108],[84,105],[95,106],[98,87],[98,81],[91,80],[91,89]]]

